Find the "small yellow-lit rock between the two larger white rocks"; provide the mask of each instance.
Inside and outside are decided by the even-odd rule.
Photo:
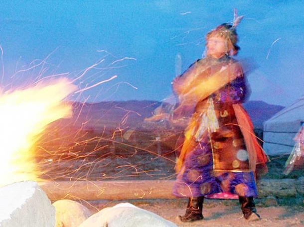
[[[68,200],[58,200],[53,203],[56,208],[56,227],[78,227],[92,212],[82,204]]]

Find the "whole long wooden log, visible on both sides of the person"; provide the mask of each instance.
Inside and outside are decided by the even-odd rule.
[[[52,181],[40,187],[51,200],[174,199],[173,184],[174,180]],[[295,197],[296,184],[294,179],[263,179],[258,183],[259,198]]]

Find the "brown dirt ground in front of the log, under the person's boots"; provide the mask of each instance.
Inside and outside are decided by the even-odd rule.
[[[183,215],[187,201],[176,200],[133,200],[133,201],[99,201],[92,202],[91,210],[96,212],[105,207],[112,207],[120,202],[129,202],[140,208],[151,211],[178,227],[304,227],[304,206],[271,206],[257,204],[262,220],[248,222],[242,217],[238,201],[206,200],[203,208],[204,219],[192,223],[182,223],[178,215]]]

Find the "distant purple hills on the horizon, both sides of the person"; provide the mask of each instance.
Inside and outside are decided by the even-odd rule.
[[[74,103],[73,117],[64,119],[76,128],[94,129],[124,128],[138,126],[161,102],[150,100],[112,101],[99,103]],[[263,122],[271,118],[284,107],[268,104],[263,101],[248,101],[244,104],[255,128],[263,128]]]

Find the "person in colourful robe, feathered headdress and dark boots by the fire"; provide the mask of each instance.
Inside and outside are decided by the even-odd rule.
[[[172,191],[178,198],[188,198],[186,213],[179,216],[182,222],[203,219],[205,197],[238,198],[245,219],[260,219],[254,203],[256,167],[266,171],[267,156],[241,104],[248,93],[245,75],[231,58],[240,49],[236,26],[241,19],[210,31],[206,57],[172,82],[180,106],[195,106],[176,161]]]

